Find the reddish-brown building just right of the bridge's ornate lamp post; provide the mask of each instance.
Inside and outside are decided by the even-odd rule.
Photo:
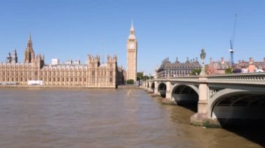
[[[225,69],[231,67],[231,63],[229,61],[225,61],[225,58],[221,58],[221,60],[213,61],[213,58],[210,58],[210,63],[206,69],[206,74],[225,74]]]

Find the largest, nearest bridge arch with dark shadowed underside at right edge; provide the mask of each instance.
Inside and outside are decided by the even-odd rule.
[[[209,114],[221,124],[265,120],[265,92],[253,88],[220,90],[210,99]]]

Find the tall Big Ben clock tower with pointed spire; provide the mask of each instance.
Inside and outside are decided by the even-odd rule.
[[[127,76],[126,79],[137,81],[137,40],[133,24],[130,27],[130,35],[127,40]]]

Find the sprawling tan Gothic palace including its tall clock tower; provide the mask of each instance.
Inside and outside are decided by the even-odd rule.
[[[24,63],[17,63],[17,52],[0,63],[0,85],[29,85],[29,81],[41,81],[46,86],[70,86],[84,88],[116,88],[125,79],[136,81],[137,40],[131,26],[127,41],[127,68],[117,65],[117,56],[107,56],[100,63],[100,56],[87,56],[86,64],[66,63],[46,65],[44,55],[34,54],[31,35],[24,51]]]

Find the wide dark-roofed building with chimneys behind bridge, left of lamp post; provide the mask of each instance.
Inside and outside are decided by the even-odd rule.
[[[169,58],[166,58],[157,70],[157,77],[189,76],[193,69],[201,69],[201,67],[197,58],[196,60],[194,58],[192,60],[187,58],[185,63],[180,63],[178,58],[176,58],[175,63],[171,63]]]

